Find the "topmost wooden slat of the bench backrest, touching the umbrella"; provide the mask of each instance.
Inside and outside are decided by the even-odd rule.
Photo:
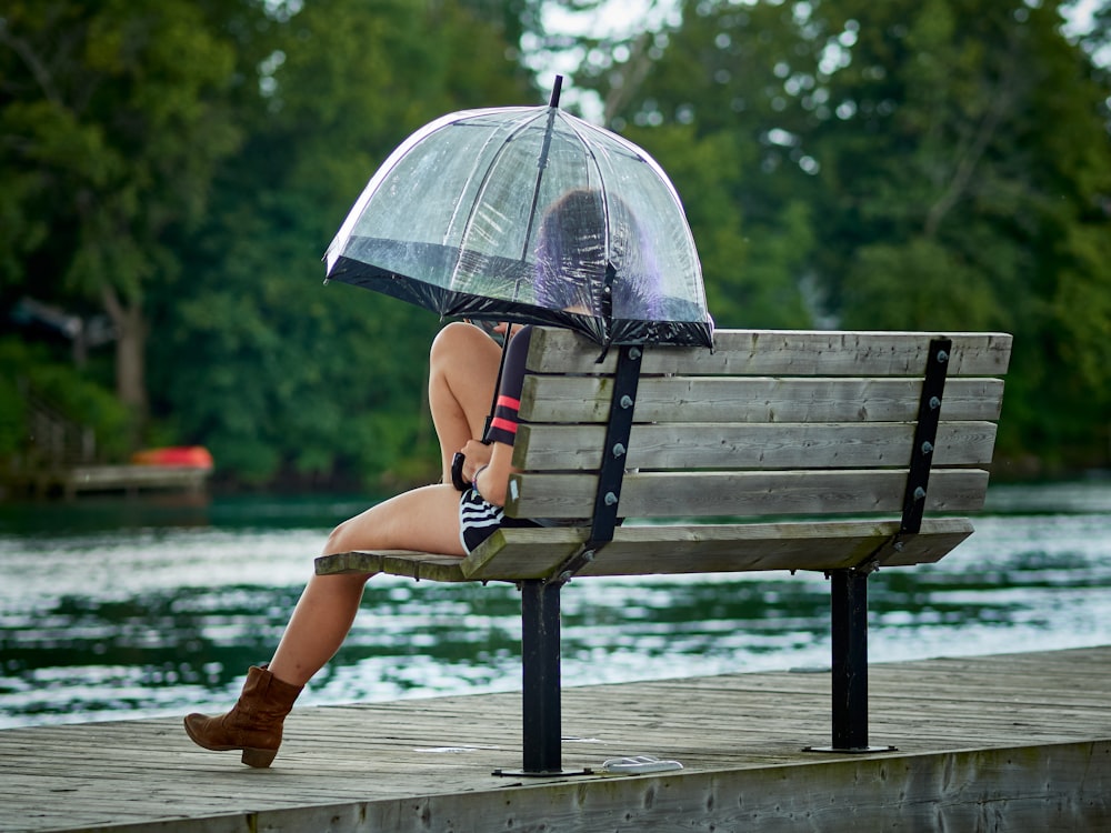
[[[1002,375],[1011,354],[1008,333],[937,333],[951,338],[948,374]],[[827,330],[718,330],[713,351],[703,348],[650,347],[645,373],[738,373],[757,375],[917,375],[925,367],[930,339],[923,332]],[[538,330],[528,365],[558,364],[569,373],[612,372],[611,350],[602,363],[597,345],[583,344],[569,331]]]

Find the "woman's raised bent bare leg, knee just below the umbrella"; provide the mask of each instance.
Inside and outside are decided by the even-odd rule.
[[[468,440],[482,439],[500,361],[498,343],[472,324],[450,323],[432,342],[428,401],[440,440],[444,483],[451,482],[454,453]]]

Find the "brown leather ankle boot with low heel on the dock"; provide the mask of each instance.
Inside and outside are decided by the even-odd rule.
[[[199,746],[216,752],[241,749],[248,766],[269,766],[281,745],[281,724],[302,688],[282,682],[266,665],[252,665],[234,707],[218,717],[190,714],[186,732]]]

